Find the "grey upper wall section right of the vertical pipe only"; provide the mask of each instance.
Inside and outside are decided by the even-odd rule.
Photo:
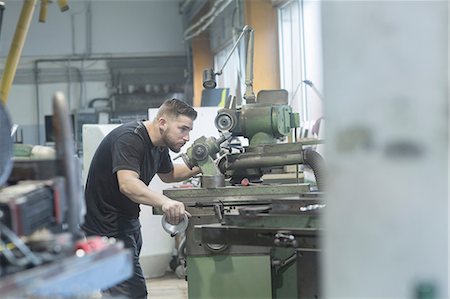
[[[94,2],[93,45],[96,53],[184,52],[178,1]],[[108,24],[104,26],[104,24]]]

